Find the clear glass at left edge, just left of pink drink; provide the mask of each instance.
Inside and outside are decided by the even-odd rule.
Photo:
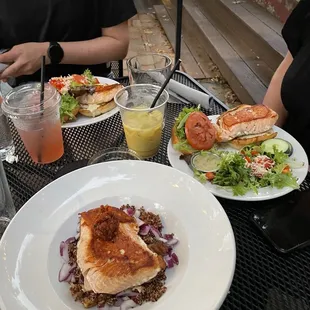
[[[2,90],[3,85],[0,81],[0,105],[2,103]],[[15,146],[10,131],[10,126],[7,117],[3,114],[0,107],[0,160],[5,160],[8,156],[13,156]]]

